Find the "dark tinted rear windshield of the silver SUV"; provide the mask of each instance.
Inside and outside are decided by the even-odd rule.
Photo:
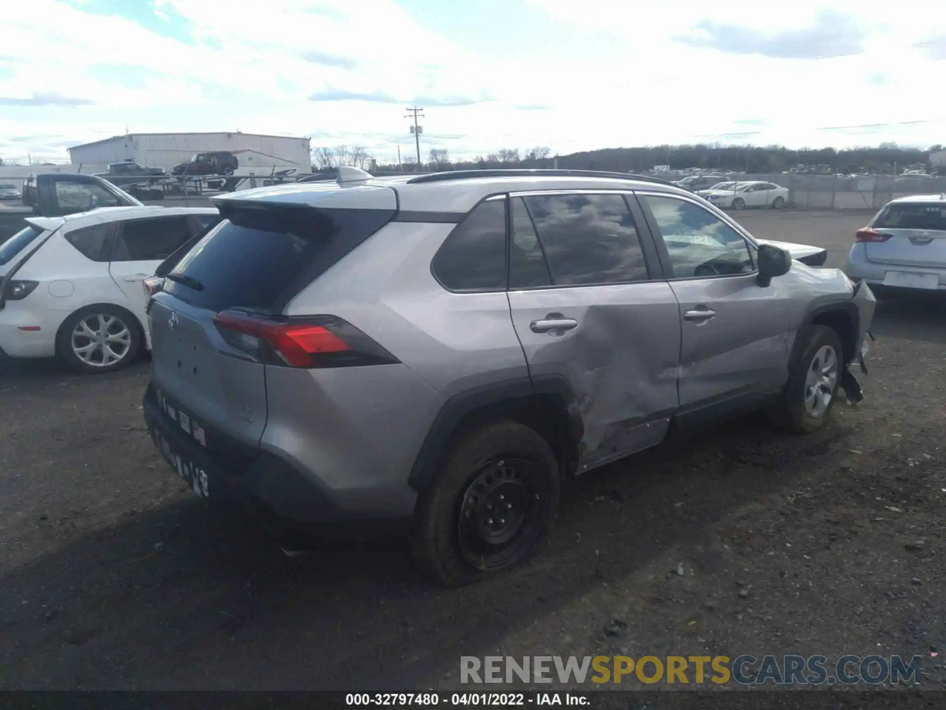
[[[280,312],[394,210],[224,205],[225,218],[171,269],[166,293],[212,311]],[[192,288],[200,284],[201,288]]]

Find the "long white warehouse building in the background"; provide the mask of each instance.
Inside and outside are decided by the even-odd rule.
[[[127,133],[69,149],[74,166],[104,166],[133,160],[149,168],[170,171],[199,152],[231,151],[246,169],[312,169],[308,138],[257,133]]]

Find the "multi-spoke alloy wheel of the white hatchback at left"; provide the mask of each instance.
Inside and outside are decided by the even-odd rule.
[[[141,332],[128,311],[93,306],[65,319],[56,346],[62,360],[79,372],[114,372],[134,361]]]

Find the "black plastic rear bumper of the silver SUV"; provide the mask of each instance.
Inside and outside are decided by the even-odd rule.
[[[212,504],[240,509],[284,548],[377,539],[410,529],[410,515],[372,515],[339,506],[331,491],[320,486],[317,479],[274,453],[260,450],[252,457],[244,457],[240,464],[222,460],[201,447],[162,410],[153,385],[145,392],[144,413],[159,451],[160,435],[173,453],[200,467]],[[185,480],[191,484],[187,476]]]

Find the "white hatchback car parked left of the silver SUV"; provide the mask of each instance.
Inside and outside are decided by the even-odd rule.
[[[109,372],[150,349],[142,281],[219,222],[216,207],[102,207],[32,217],[0,244],[0,357]]]

